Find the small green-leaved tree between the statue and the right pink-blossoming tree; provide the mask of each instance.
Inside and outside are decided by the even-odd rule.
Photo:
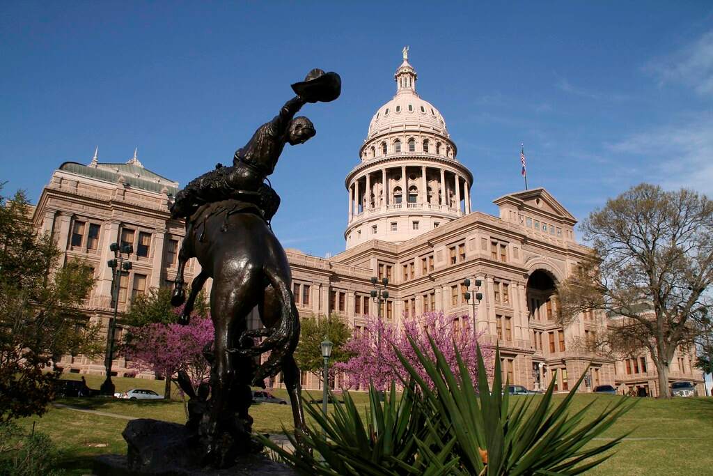
[[[324,367],[321,344],[325,337],[332,341],[330,361],[340,363],[350,357],[351,354],[344,348],[347,340],[352,337],[352,331],[347,324],[337,315],[322,319],[312,316],[300,322],[299,343],[294,350],[294,360],[297,361],[299,370],[312,372],[321,378]]]

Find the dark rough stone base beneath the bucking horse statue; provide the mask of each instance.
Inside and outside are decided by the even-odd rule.
[[[126,456],[102,455],[94,460],[97,476],[295,476],[290,467],[260,455],[245,455],[232,467],[215,470],[200,465],[195,434],[185,425],[141,418],[126,425]]]

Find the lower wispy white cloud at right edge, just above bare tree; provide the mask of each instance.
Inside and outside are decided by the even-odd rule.
[[[648,164],[642,180],[665,188],[693,188],[713,196],[713,114],[688,116],[677,123],[634,133],[607,144],[613,153],[635,155]]]

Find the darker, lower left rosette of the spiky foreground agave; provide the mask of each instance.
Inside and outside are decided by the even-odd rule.
[[[302,432],[299,440],[285,431],[294,452],[258,436],[272,452],[271,457],[277,455],[302,475],[440,476],[451,474],[457,467],[454,441],[438,445],[438,452],[429,448],[436,445],[426,427],[422,396],[413,384],[406,384],[399,397],[392,383],[385,399],[371,385],[364,419],[348,392],[344,393],[343,404],[331,400],[331,415],[322,414],[317,405],[305,407],[316,425]],[[383,406],[380,400],[384,400]]]

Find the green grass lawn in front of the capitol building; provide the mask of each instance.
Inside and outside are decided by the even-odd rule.
[[[91,388],[98,388],[102,378],[86,375]],[[95,382],[96,380],[96,382]],[[130,378],[114,378],[117,391],[129,388],[150,388],[163,393],[163,382]],[[275,395],[287,399],[284,390]],[[306,394],[306,393],[305,393]],[[321,397],[321,392],[312,392]],[[306,400],[311,397],[305,395]],[[535,396],[537,397],[537,396]],[[520,397],[515,397],[520,398]],[[513,398],[512,400],[515,400]],[[561,398],[560,395],[557,398]],[[622,398],[614,395],[583,394],[575,397],[570,413],[595,400],[592,414],[604,410],[607,404]],[[365,407],[366,394],[355,393],[354,400]],[[165,400],[115,400],[104,398],[71,398],[60,403],[128,417],[147,417],[173,422],[185,422],[183,402]],[[330,405],[331,406],[331,405]],[[256,432],[282,432],[292,429],[289,405],[263,403],[251,407]],[[28,430],[36,422],[36,430],[46,432],[61,451],[59,467],[68,475],[83,475],[91,470],[92,458],[104,453],[123,454],[126,445],[121,437],[127,420],[51,408],[41,418],[26,418],[19,423]],[[702,475],[711,473],[710,448],[713,447],[713,398],[679,398],[655,400],[642,398],[614,427],[602,437],[615,437],[630,432],[628,439],[615,450],[615,455],[588,475]]]

